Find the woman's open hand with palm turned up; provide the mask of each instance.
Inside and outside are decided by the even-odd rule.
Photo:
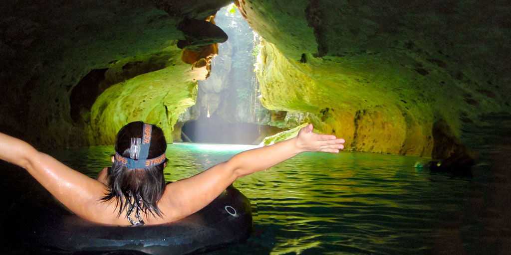
[[[313,132],[312,124],[303,127],[296,136],[295,146],[302,151],[323,151],[337,153],[344,148],[344,139],[334,135],[321,135]]]

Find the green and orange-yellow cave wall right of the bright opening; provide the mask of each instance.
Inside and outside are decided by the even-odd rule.
[[[237,5],[263,38],[263,105],[349,149],[445,158],[463,147],[463,123],[510,111],[505,1]]]

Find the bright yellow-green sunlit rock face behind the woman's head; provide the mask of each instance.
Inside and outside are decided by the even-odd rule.
[[[177,48],[171,49],[179,52]],[[172,64],[112,85],[101,93],[91,108],[90,143],[112,144],[123,125],[139,120],[158,125],[168,142],[172,142],[178,117],[195,104],[196,79],[205,79],[206,74],[205,68]]]

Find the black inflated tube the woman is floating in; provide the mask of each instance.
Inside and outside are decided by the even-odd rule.
[[[252,231],[250,202],[233,186],[187,218],[148,226],[91,223],[69,212],[49,193],[43,194],[22,199],[10,210],[11,242],[66,251],[186,254],[244,242]]]

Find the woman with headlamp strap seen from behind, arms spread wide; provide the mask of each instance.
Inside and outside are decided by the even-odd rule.
[[[270,168],[305,151],[339,152],[343,139],[301,129],[289,140],[240,152],[197,175],[165,184],[167,142],[159,127],[131,122],[117,134],[113,165],[97,180],[28,143],[0,133],[0,159],[27,171],[79,217],[110,225],[154,225],[187,217],[238,178]]]

